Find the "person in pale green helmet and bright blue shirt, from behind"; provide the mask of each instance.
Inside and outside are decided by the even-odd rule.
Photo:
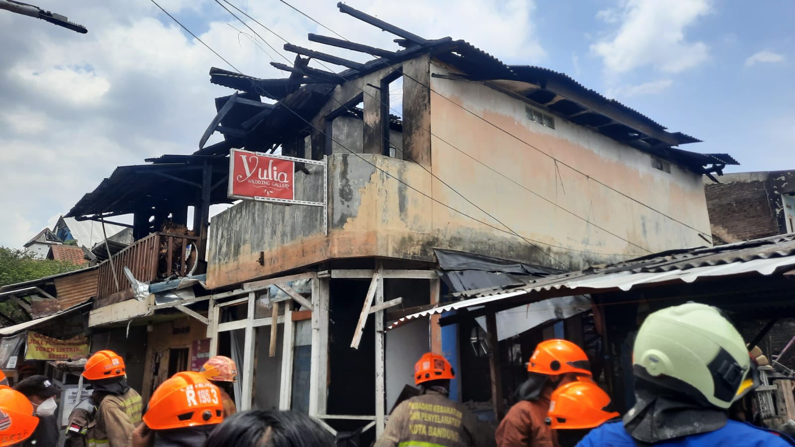
[[[752,388],[743,337],[715,307],[687,303],[646,317],[633,350],[635,404],[622,422],[591,430],[580,445],[789,445],[731,421],[727,409]]]

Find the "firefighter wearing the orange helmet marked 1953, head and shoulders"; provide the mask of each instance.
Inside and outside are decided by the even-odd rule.
[[[221,393],[196,371],[177,372],[152,393],[143,421],[130,437],[131,447],[204,445],[223,421]]]

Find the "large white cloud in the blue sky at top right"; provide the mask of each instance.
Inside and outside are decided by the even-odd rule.
[[[685,29],[710,12],[708,0],[628,0],[597,17],[619,23],[609,37],[591,45],[608,73],[622,74],[650,66],[677,73],[708,58],[704,42],[689,41]]]

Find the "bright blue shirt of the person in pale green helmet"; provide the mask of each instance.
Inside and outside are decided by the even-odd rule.
[[[638,445],[623,423],[607,422],[588,433],[577,447],[635,447]],[[695,447],[701,445],[742,445],[743,447],[786,447],[789,442],[775,433],[746,424],[728,421],[723,428],[708,432],[677,437],[654,444],[655,447]]]

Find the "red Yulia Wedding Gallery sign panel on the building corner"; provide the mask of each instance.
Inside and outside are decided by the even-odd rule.
[[[237,149],[229,157],[230,198],[295,200],[295,161]]]

